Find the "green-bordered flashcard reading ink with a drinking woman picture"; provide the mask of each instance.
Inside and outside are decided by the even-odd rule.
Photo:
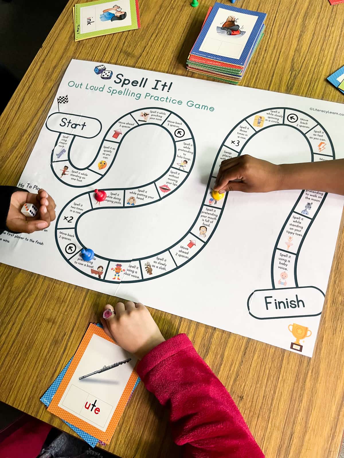
[[[75,41],[140,28],[138,0],[79,3],[74,16]]]

